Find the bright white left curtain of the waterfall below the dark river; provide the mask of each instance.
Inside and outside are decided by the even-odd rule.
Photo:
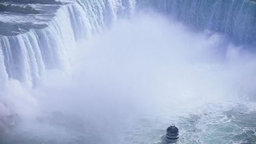
[[[126,4],[126,5],[123,5]],[[132,1],[77,1],[62,5],[46,28],[0,35],[0,80],[33,85],[46,69],[68,69],[68,53],[78,39],[104,30],[133,11]]]

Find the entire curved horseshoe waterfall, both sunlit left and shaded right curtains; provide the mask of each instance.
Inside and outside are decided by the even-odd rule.
[[[65,1],[67,2],[67,1]],[[196,30],[226,34],[238,44],[255,44],[256,2],[238,0],[76,0],[57,9],[47,27],[0,35],[0,83],[33,85],[46,69],[69,68],[76,40],[91,37],[135,9],[153,8]]]

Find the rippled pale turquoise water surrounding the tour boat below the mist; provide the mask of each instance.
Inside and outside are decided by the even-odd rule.
[[[1,135],[1,143],[167,143],[164,135],[169,121],[175,121],[180,129],[177,143],[256,143],[256,111],[245,106],[249,104],[234,104],[228,110],[207,104],[201,113],[187,116],[161,113],[164,116],[144,116],[132,123],[121,119],[115,123],[107,121],[107,126],[101,125],[104,132],[85,121],[55,116],[29,131],[14,130]]]

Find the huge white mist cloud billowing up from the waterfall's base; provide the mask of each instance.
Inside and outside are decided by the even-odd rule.
[[[1,87],[0,106],[11,107],[2,113],[21,119],[4,142],[158,143],[169,123],[255,103],[248,46],[160,14],[116,21],[72,49],[67,71],[48,70],[34,87],[14,79]]]

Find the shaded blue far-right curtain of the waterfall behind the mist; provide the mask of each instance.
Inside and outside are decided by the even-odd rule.
[[[237,44],[254,44],[256,2],[252,0],[137,0],[137,9],[153,8],[196,30],[226,34]]]

